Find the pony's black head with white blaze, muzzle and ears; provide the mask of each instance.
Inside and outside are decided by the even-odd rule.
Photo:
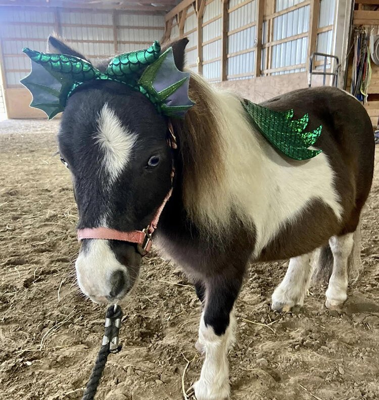
[[[171,45],[179,70],[186,43]],[[54,37],[49,46],[50,53],[84,59]],[[130,232],[151,223],[171,188],[167,137],[167,118],[127,85],[98,80],[77,88],[67,101],[58,142],[72,175],[78,229]],[[84,239],[75,264],[79,287],[93,301],[117,301],[133,287],[140,261],[137,244]]]

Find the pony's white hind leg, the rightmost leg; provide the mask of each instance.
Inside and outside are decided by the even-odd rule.
[[[347,298],[348,258],[353,249],[353,234],[333,236],[329,246],[333,253],[333,272],[325,293],[327,308],[339,308]]]

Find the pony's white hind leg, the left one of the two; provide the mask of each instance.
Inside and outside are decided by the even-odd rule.
[[[290,311],[294,305],[303,305],[312,277],[312,253],[290,259],[287,272],[272,294],[271,308],[277,311]]]

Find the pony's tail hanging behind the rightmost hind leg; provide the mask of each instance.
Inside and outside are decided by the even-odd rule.
[[[331,273],[333,272],[333,253],[327,244],[319,247],[313,252],[313,284],[325,285],[329,282]],[[357,229],[353,234],[353,248],[348,258],[348,274],[349,285],[355,283],[362,272],[363,264],[361,260],[361,219]]]

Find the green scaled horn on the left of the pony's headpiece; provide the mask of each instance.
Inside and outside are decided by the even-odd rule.
[[[25,48],[22,50],[32,61],[52,74],[67,74],[74,81],[84,82],[98,77],[101,73],[88,61],[65,54],[44,54]]]

